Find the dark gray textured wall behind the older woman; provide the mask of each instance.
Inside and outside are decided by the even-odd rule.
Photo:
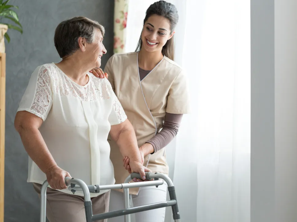
[[[28,155],[13,121],[29,78],[38,65],[59,62],[53,35],[60,21],[74,16],[97,20],[106,28],[102,68],[113,50],[113,0],[11,0],[24,33],[8,31],[6,43],[6,144],[5,144],[5,222],[38,221],[39,199],[32,185],[26,183]],[[71,155],[71,154],[69,154]]]

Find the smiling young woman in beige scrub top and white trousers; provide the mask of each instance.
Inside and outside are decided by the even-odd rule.
[[[164,147],[176,136],[183,114],[189,112],[185,74],[173,61],[177,22],[174,5],[155,2],[146,11],[136,52],[113,55],[104,70],[134,127],[144,165],[152,172],[165,174],[169,170]],[[91,72],[105,77],[97,68]],[[116,183],[123,183],[129,175],[126,170],[130,170],[129,159],[123,160],[117,144],[111,140],[109,143]],[[165,201],[167,184],[130,189],[130,194],[133,206]],[[122,190],[111,191],[110,211],[123,208]],[[135,217],[137,222],[164,222],[165,208],[136,213]],[[122,222],[124,218],[108,221]]]

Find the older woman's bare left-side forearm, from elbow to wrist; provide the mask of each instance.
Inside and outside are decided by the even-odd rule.
[[[19,128],[17,131],[21,136],[24,148],[29,157],[37,164],[42,172],[46,173],[50,168],[57,165],[37,128]]]

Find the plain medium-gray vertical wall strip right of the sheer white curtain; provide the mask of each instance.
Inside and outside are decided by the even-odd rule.
[[[274,1],[251,0],[251,222],[275,221]]]

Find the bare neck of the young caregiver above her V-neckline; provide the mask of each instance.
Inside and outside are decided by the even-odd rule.
[[[148,52],[141,49],[138,53],[138,66],[144,70],[152,70],[163,57],[161,51]]]

